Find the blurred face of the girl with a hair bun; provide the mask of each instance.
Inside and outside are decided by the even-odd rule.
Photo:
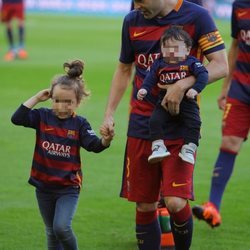
[[[78,107],[73,89],[63,89],[60,85],[56,85],[51,98],[52,110],[60,119],[69,118]]]

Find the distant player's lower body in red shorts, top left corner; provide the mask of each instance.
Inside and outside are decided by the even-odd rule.
[[[26,59],[27,51],[24,48],[24,1],[23,0],[2,0],[1,21],[6,27],[6,36],[9,50],[4,56],[5,61],[12,61],[16,57]],[[15,44],[13,32],[13,20],[17,19],[18,42]]]

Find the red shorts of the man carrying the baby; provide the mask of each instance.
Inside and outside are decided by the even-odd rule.
[[[194,166],[179,156],[183,140],[165,141],[170,156],[161,163],[149,164],[151,141],[128,137],[121,197],[129,201],[153,203],[175,196],[193,200]]]

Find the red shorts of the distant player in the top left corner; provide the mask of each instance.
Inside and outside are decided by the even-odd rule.
[[[3,4],[1,8],[2,22],[9,22],[14,18],[17,18],[19,20],[24,20],[24,4],[23,3]]]

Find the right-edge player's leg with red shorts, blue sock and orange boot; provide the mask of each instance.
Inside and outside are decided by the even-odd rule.
[[[249,124],[249,105],[228,98],[222,123],[222,143],[214,166],[209,201],[192,208],[194,216],[212,228],[221,224],[219,210],[222,197],[233,172],[236,156],[248,136]]]

